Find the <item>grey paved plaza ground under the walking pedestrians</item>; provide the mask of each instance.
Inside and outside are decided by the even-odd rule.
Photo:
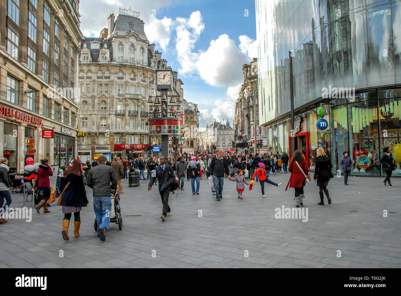
[[[160,219],[162,203],[157,186],[148,182],[128,187],[122,180],[123,229],[110,224],[106,241],[96,237],[92,191],[81,211],[81,236],[69,241],[61,236],[61,207],[51,213],[32,213],[32,221],[9,219],[0,225],[2,268],[399,268],[401,267],[401,179],[394,188],[382,178],[350,176],[330,180],[332,204],[319,202],[318,187],[306,184],[304,208],[308,221],[276,219],[275,209],[295,207],[294,190],[285,191],[290,174],[270,179],[282,187],[246,187],[237,199],[235,182],[224,181],[219,202],[209,191],[206,176],[200,195],[184,191],[170,195],[171,215]],[[12,207],[22,207],[22,196],[13,194]],[[325,198],[326,199],[326,198]],[[28,202],[31,205],[31,202]],[[201,211],[201,212],[200,212]],[[387,211],[387,217],[383,217]],[[202,214],[202,217],[200,216]],[[61,252],[62,250],[62,252]],[[61,257],[60,254],[63,254]],[[152,256],[153,255],[153,256]],[[248,256],[247,256],[248,255]]]

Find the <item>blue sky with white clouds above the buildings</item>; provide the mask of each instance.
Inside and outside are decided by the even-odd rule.
[[[184,85],[184,99],[198,104],[199,129],[233,123],[243,82],[242,65],[257,57],[252,0],[81,0],[81,31],[99,37],[118,7],[140,12],[150,44],[162,52]]]

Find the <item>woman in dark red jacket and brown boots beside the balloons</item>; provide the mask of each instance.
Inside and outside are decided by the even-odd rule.
[[[47,209],[47,201],[49,200],[51,193],[49,176],[53,176],[53,171],[49,166],[49,160],[46,158],[42,159],[41,163],[42,164],[39,165],[38,168],[38,178],[35,182],[35,189],[36,187],[38,188],[38,194],[41,193],[42,197],[39,203],[35,206],[38,214],[40,214],[39,210],[41,207],[44,209],[43,213],[50,213],[50,211]]]

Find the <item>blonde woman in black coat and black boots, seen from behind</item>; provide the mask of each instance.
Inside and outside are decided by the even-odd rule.
[[[316,153],[318,157],[316,158],[315,175],[313,178],[316,182],[316,185],[319,186],[320,203],[318,203],[318,205],[324,205],[323,192],[326,194],[328,204],[331,205],[331,199],[330,195],[328,194],[327,185],[328,181],[330,181],[330,178],[333,177],[331,172],[333,165],[322,147],[318,148]]]

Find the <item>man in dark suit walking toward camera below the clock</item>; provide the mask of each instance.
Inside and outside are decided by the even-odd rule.
[[[159,180],[159,193],[163,203],[163,213],[160,218],[162,218],[162,221],[165,221],[166,217],[170,214],[168,197],[170,195],[170,185],[175,180],[175,173],[172,166],[166,163],[166,158],[164,156],[160,156],[160,166],[156,168],[155,176],[152,175],[152,178],[149,181],[148,190],[152,189],[152,185],[156,181],[156,178]]]

